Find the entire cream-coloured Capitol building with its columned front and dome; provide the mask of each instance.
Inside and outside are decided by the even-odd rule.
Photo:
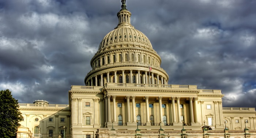
[[[222,107],[221,90],[169,85],[150,40],[122,0],[118,25],[69,104],[20,103],[18,138],[256,138],[255,108]]]

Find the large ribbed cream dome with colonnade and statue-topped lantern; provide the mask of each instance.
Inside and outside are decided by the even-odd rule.
[[[167,84],[169,77],[160,68],[160,56],[146,35],[131,25],[131,12],[125,3],[117,17],[118,25],[101,41],[91,59],[92,70],[84,83],[87,86],[104,86],[106,83]]]

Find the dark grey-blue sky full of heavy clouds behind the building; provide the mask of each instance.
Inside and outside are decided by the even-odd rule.
[[[168,84],[221,89],[223,107],[256,107],[255,0],[126,5],[161,56]],[[120,9],[120,0],[0,0],[0,89],[19,103],[68,104]]]

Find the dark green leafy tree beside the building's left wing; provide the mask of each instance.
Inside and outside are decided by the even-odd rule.
[[[16,138],[22,120],[18,107],[18,100],[12,97],[11,91],[0,91],[0,138]]]

